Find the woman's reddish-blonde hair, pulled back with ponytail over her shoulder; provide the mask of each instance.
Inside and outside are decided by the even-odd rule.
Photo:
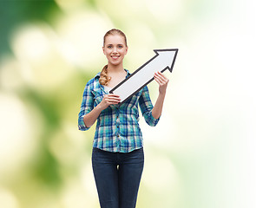
[[[103,38],[103,46],[105,46],[105,41],[106,41],[106,37],[107,36],[115,36],[115,35],[119,35],[122,36],[124,38],[124,42],[125,45],[127,46],[127,39],[125,34],[120,30],[120,29],[110,29],[104,36]],[[108,85],[108,81],[110,81],[110,77],[108,77],[108,64],[105,65],[102,68],[102,72],[101,72],[101,77],[99,79],[100,83],[102,85]]]

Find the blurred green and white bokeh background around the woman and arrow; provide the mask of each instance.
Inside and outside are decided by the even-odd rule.
[[[137,207],[256,207],[253,0],[1,0],[0,206],[97,208],[79,132],[82,91],[128,36],[131,72],[153,49],[179,49],[161,121],[144,133]],[[156,100],[157,84],[149,84]]]

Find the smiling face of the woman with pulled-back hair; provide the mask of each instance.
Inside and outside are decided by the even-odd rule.
[[[108,64],[114,66],[122,64],[122,60],[128,51],[124,37],[120,35],[107,36],[102,49],[108,59]]]

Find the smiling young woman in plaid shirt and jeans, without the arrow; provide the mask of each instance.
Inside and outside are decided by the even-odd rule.
[[[134,208],[144,165],[138,106],[148,125],[155,126],[161,116],[168,79],[161,72],[155,73],[159,95],[154,106],[147,87],[118,105],[118,94],[108,91],[130,75],[122,63],[128,52],[126,36],[119,29],[109,30],[102,49],[108,65],[86,84],[78,127],[88,130],[97,120],[92,166],[101,207]]]

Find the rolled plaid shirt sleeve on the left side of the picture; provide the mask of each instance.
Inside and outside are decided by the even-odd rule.
[[[90,81],[89,81],[90,82]],[[82,104],[80,107],[80,112],[78,114],[78,129],[81,131],[89,130],[83,121],[83,116],[89,114],[94,108],[94,94],[91,93],[91,87],[89,82],[86,84],[83,94],[82,94]]]

